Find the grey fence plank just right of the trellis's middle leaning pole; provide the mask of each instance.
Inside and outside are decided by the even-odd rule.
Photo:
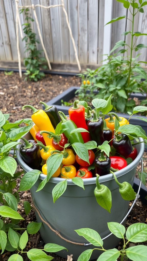
[[[49,6],[49,0],[40,0],[43,6]],[[43,43],[49,57],[49,61],[53,62],[52,34],[50,25],[50,9],[41,8],[42,34]]]

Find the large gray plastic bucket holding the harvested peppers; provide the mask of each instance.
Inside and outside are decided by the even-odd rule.
[[[30,139],[29,134],[27,134],[25,138]],[[20,139],[19,141],[22,140]],[[140,139],[140,141],[143,141],[143,139]],[[18,148],[19,147],[20,144],[18,145]],[[138,151],[137,158],[124,169],[115,172],[119,182],[127,181],[132,186],[137,164],[143,156],[144,143],[137,144],[136,148]],[[24,163],[19,151],[16,151],[16,157],[25,173],[32,170]],[[43,220],[46,221],[54,230],[60,232],[60,235],[67,240],[77,243],[87,243],[87,240],[74,231],[79,228],[94,229],[100,234],[101,238],[105,238],[110,234],[107,222],[120,223],[128,212],[129,201],[122,199],[118,185],[112,174],[99,177],[99,182],[108,186],[111,190],[111,213],[100,207],[95,199],[93,192],[96,187],[95,177],[83,180],[85,190],[73,184],[70,179],[67,180],[66,191],[55,201],[55,203],[53,203],[52,190],[54,186],[61,181],[61,178],[52,177],[41,191],[36,192],[39,183],[45,177],[46,175],[40,174],[39,179],[30,189],[33,204],[39,211],[39,215],[41,215]],[[42,222],[39,232],[43,241],[45,243],[59,244],[68,249],[68,252],[66,250],[57,252],[56,254],[59,256],[67,258],[67,254],[73,254],[73,260],[77,260],[83,251],[95,248],[93,245],[84,246],[67,242],[60,238],[59,235],[53,232],[52,229],[41,220],[36,210],[35,214],[37,222]],[[122,224],[125,225],[125,223],[126,220]],[[103,247],[105,249],[111,249],[116,247],[119,242],[119,238],[110,235],[108,238],[104,239]],[[91,259],[98,258],[100,254],[101,251],[93,251]]]

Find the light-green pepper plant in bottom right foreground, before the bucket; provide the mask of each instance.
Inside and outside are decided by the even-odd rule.
[[[90,244],[94,245],[94,249],[85,250],[79,257],[78,261],[89,260],[92,252],[95,250],[104,251],[97,259],[97,261],[116,261],[118,257],[123,261],[125,259],[132,261],[146,261],[147,246],[137,245],[127,247],[129,242],[144,242],[147,240],[147,224],[135,223],[130,225],[127,230],[122,224],[117,222],[108,222],[108,228],[112,234],[117,238],[123,240],[123,248],[118,250],[116,248],[105,250],[103,248],[103,240],[100,235],[93,229],[81,228],[75,230],[78,235],[83,236]]]

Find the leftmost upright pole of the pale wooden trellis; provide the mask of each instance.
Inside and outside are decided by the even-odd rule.
[[[22,72],[21,72],[21,58],[20,58],[20,50],[19,50],[19,34],[18,34],[18,0],[15,0],[16,4],[16,40],[17,40],[17,53],[18,53],[18,67],[19,67],[19,75],[20,78],[22,78]]]

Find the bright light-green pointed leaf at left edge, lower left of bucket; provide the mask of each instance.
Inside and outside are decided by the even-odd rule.
[[[10,217],[18,220],[24,220],[24,218],[21,217],[18,212],[14,211],[8,206],[0,206],[0,215],[2,217]]]

